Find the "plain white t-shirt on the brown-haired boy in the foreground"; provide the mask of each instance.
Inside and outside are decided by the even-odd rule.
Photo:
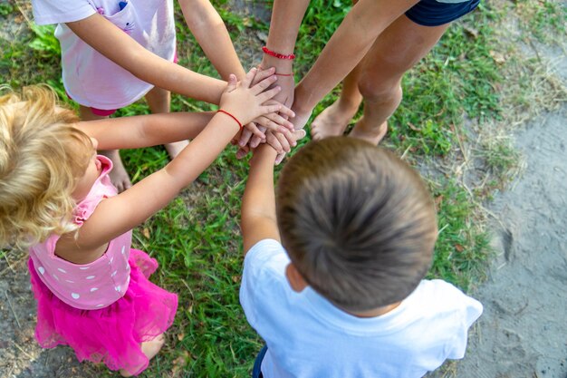
[[[309,287],[294,292],[288,263],[272,239],[245,257],[240,303],[268,346],[264,378],[421,377],[465,355],[467,330],[483,309],[445,281],[424,280],[388,314],[360,318]]]

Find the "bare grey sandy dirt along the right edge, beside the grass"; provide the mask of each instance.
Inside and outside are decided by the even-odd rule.
[[[566,120],[563,106],[517,136],[527,167],[491,205],[498,256],[457,377],[567,377]]]

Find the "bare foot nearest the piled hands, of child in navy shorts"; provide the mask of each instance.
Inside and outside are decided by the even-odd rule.
[[[358,106],[343,106],[339,100],[333,102],[312,121],[313,141],[342,135],[357,110]]]

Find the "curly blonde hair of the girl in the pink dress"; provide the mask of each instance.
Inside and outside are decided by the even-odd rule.
[[[72,190],[92,151],[90,138],[74,127],[78,121],[48,86],[0,96],[2,247],[26,248],[77,229]]]

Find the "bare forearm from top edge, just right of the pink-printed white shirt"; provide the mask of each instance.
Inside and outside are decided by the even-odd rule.
[[[239,80],[245,71],[230,40],[226,25],[208,0],[179,0],[187,26],[207,58],[225,80],[234,73]]]

